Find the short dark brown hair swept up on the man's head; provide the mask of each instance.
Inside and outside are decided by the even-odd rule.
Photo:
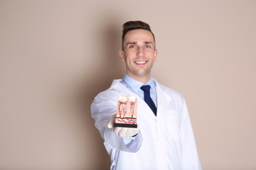
[[[125,41],[125,35],[128,31],[134,30],[134,29],[145,29],[150,31],[150,33],[152,33],[151,29],[150,29],[150,25],[146,24],[145,22],[142,21],[129,21],[129,22],[125,22],[125,24],[123,24],[123,35],[122,35],[122,50],[124,50],[124,44],[123,42]],[[155,40],[155,36],[154,33],[152,33],[153,37],[154,37],[154,42],[155,42],[155,48],[156,48],[156,40]]]

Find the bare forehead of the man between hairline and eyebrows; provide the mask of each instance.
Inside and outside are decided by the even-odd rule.
[[[125,35],[125,42],[147,41],[154,43],[152,33],[145,29],[134,29],[128,31]]]

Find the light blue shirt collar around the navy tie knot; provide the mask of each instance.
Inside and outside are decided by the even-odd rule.
[[[131,87],[131,89],[133,89],[134,92],[142,91],[140,87],[144,85],[150,85],[150,90],[152,90],[152,92],[156,92],[156,84],[152,76],[150,77],[150,80],[148,80],[148,82],[146,82],[145,84],[131,78],[127,74],[125,74],[123,80],[127,83],[128,86]]]

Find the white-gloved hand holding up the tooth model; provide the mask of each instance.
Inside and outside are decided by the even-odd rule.
[[[131,128],[131,127],[114,127],[114,123],[116,122],[116,114],[111,116],[110,120],[108,121],[108,128],[113,128],[114,132],[119,137],[132,137],[139,133],[139,127]]]

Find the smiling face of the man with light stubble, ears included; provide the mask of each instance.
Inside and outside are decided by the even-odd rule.
[[[131,30],[125,35],[123,45],[124,51],[120,50],[119,55],[125,62],[127,75],[148,82],[158,56],[152,33],[144,29]]]

